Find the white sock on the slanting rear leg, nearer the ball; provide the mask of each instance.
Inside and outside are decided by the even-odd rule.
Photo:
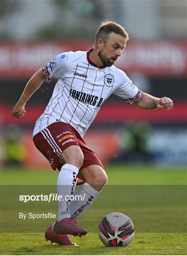
[[[99,192],[94,190],[88,183],[84,183],[77,191],[74,193],[74,196],[81,195],[84,201],[74,200],[70,203],[70,214],[75,217],[79,217],[85,210],[87,210],[91,205],[93,200],[98,196]],[[78,198],[78,197],[77,197]],[[75,197],[76,199],[76,197]]]

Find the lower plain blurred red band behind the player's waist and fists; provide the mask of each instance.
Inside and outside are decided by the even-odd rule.
[[[32,125],[40,117],[45,109],[45,105],[27,105],[26,115],[24,118],[15,119],[11,117],[11,111],[13,106],[0,104],[1,112],[1,124],[8,125],[10,123],[16,123],[19,125]],[[129,106],[126,102],[118,103],[105,103],[102,110],[99,111],[97,117],[94,120],[94,124],[109,124],[123,123],[126,120],[135,121],[149,121],[152,123],[186,123],[187,122],[187,102],[186,101],[174,101],[174,107],[172,110],[154,110],[146,111],[136,108],[135,106]]]

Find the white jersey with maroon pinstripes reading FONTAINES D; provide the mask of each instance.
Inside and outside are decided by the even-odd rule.
[[[58,81],[44,113],[36,121],[33,136],[51,123],[62,121],[83,137],[111,94],[129,104],[142,99],[143,92],[122,70],[93,64],[89,59],[91,51],[62,53],[43,67],[46,82],[52,78]]]

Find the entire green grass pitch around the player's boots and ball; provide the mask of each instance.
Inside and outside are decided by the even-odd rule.
[[[17,195],[25,184],[25,191],[35,194],[42,186],[55,185],[58,172],[52,170],[28,170],[26,168],[4,168],[1,172],[2,230],[1,255],[184,255],[187,252],[186,196],[187,172],[185,167],[158,167],[138,165],[110,165],[106,167],[109,186],[94,201],[93,206],[80,217],[79,224],[88,229],[85,238],[72,238],[79,247],[63,247],[45,242],[43,232],[51,220],[31,222],[19,221],[17,210],[26,205],[19,204]],[[121,186],[119,186],[121,184]],[[16,185],[16,186],[14,186]],[[31,186],[29,186],[31,185]],[[112,186],[115,185],[115,186]],[[131,185],[131,186],[129,186]],[[134,185],[134,186],[133,186]],[[144,185],[144,186],[143,186]],[[151,186],[149,186],[151,185]],[[163,186],[167,185],[167,186]],[[181,185],[181,186],[179,186]],[[45,186],[49,192],[55,186]],[[5,191],[6,193],[5,193]],[[33,189],[35,189],[33,191]],[[28,193],[30,194],[30,193]],[[39,193],[38,193],[39,194]],[[6,196],[5,196],[6,195]],[[28,212],[51,212],[56,205],[27,204]],[[31,209],[29,208],[31,207]],[[21,211],[21,210],[20,210]],[[127,247],[105,247],[97,234],[99,221],[113,211],[126,213],[133,219],[136,228],[134,240]],[[12,219],[14,225],[12,226]],[[28,227],[19,231],[19,227]],[[35,223],[35,222],[34,222]],[[30,225],[30,226],[29,226]],[[37,226],[37,227],[36,227]],[[5,229],[5,228],[6,229]],[[26,227],[25,227],[26,228]],[[31,232],[41,233],[31,233]],[[16,232],[20,233],[16,233]],[[8,231],[4,231],[8,232]],[[15,232],[15,233],[14,233]],[[182,233],[183,232],[183,233]]]

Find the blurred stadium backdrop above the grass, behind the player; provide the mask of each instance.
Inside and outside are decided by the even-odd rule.
[[[116,66],[143,91],[170,97],[174,108],[144,111],[112,96],[87,132],[87,144],[104,164],[186,164],[186,1],[9,0],[1,7],[3,165],[48,166],[34,148],[32,130],[55,81],[43,83],[23,119],[13,119],[11,109],[29,77],[54,56],[92,48],[105,19],[120,23],[130,37]]]

